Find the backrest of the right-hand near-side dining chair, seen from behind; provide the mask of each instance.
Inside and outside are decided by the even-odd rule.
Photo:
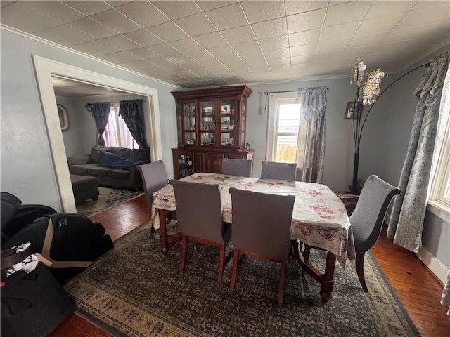
[[[230,188],[234,247],[287,260],[295,197]]]

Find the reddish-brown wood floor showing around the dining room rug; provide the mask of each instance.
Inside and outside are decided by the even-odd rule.
[[[106,210],[92,220],[103,224],[113,240],[150,220],[144,197]],[[442,284],[411,251],[386,239],[385,230],[371,249],[392,288],[423,337],[450,336],[450,317],[439,304]],[[370,291],[370,289],[369,289]],[[105,331],[73,314],[53,331],[51,337],[108,337]]]

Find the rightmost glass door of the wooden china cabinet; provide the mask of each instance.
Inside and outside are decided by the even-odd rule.
[[[219,100],[220,112],[220,146],[236,147],[236,100]]]

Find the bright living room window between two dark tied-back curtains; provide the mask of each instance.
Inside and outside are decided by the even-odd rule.
[[[110,116],[106,124],[103,138],[106,146],[127,147],[129,149],[139,149],[138,143],[129,132],[124,119],[119,116],[119,103],[113,103],[110,107]]]

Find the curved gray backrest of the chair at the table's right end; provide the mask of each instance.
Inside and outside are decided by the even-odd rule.
[[[356,251],[364,253],[377,242],[387,206],[392,198],[400,193],[399,188],[386,183],[378,176],[367,178],[356,208],[350,216]]]

